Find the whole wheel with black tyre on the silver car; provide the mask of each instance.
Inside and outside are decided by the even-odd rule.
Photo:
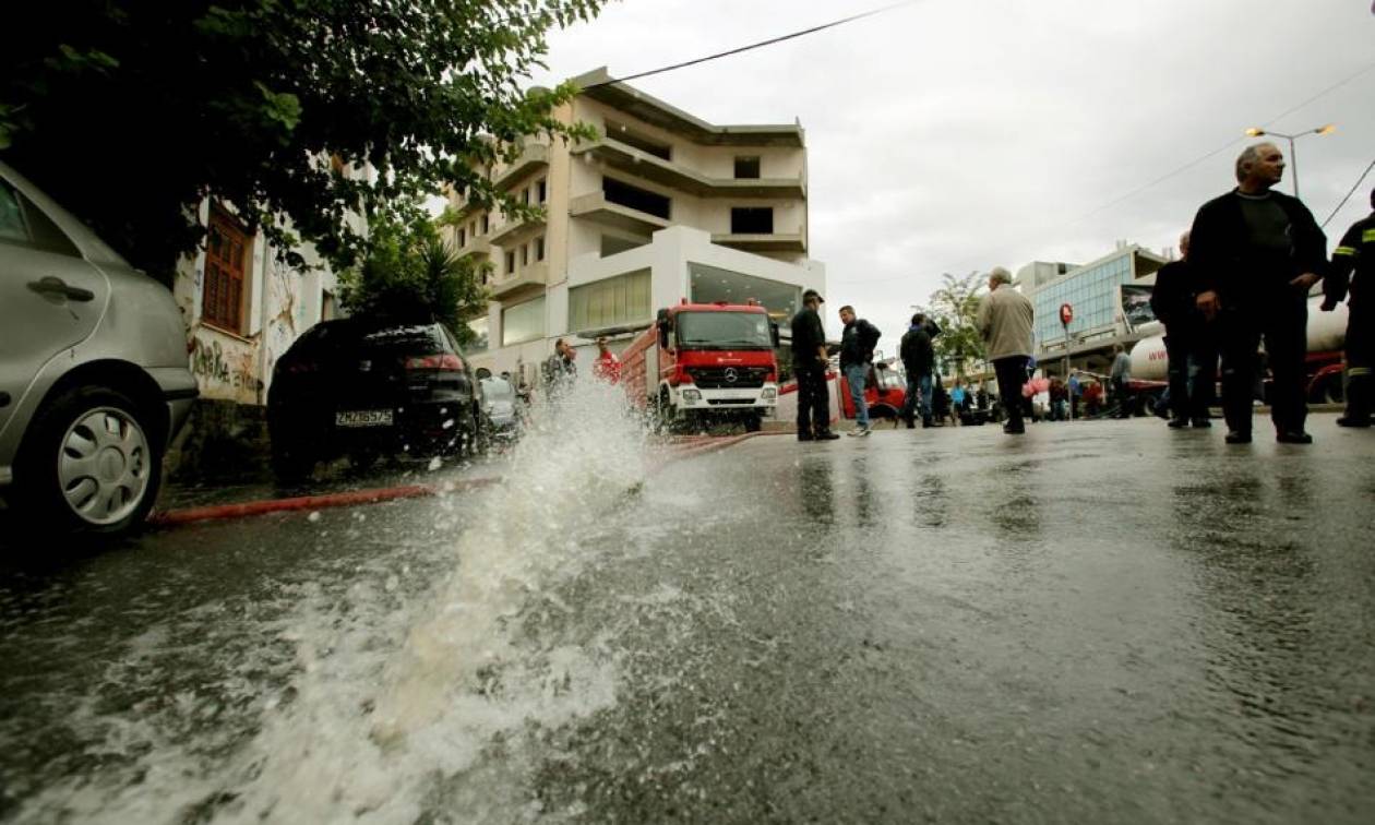
[[[147,412],[102,386],[67,390],[38,412],[15,481],[40,518],[66,531],[118,534],[142,524],[162,481]]]

